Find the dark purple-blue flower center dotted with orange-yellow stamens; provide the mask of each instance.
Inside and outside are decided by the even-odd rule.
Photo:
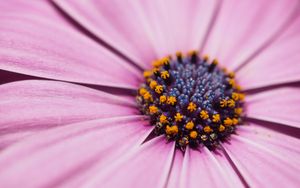
[[[220,69],[216,59],[177,52],[154,61],[144,77],[137,94],[140,111],[150,117],[155,134],[164,134],[177,148],[213,149],[241,122],[244,94],[234,73]]]

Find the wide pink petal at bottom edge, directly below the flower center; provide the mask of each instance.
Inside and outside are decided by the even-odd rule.
[[[206,147],[199,151],[187,148],[180,187],[242,187],[227,159],[211,153]]]

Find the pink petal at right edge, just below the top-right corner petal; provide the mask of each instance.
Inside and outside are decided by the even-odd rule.
[[[300,81],[299,32],[300,16],[284,36],[236,73],[243,89]]]

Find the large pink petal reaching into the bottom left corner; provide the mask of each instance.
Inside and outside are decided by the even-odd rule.
[[[1,153],[0,187],[57,187],[80,180],[94,165],[110,165],[139,146],[152,129],[141,118],[93,120],[25,139]]]

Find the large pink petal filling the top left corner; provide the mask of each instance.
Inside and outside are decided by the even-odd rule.
[[[138,86],[141,74],[136,68],[71,28],[48,1],[31,6],[5,2],[0,3],[0,69],[71,82]]]

